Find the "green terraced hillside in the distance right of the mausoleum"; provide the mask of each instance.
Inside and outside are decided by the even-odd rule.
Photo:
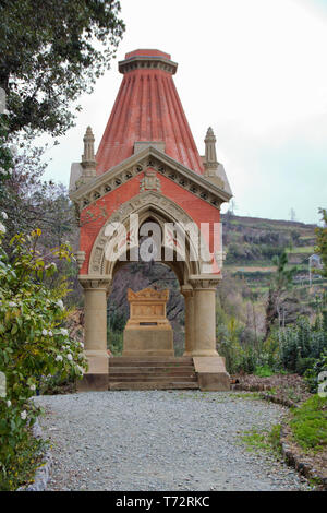
[[[295,286],[307,296],[308,258],[314,254],[315,225],[231,214],[222,215],[222,224],[226,271],[244,277],[253,291],[264,293],[275,271],[274,255],[286,250],[290,265],[296,265],[299,270]],[[315,295],[323,288],[327,289],[327,282],[313,271],[310,291]]]

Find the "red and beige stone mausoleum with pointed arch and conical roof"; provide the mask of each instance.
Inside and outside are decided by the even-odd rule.
[[[216,349],[216,289],[222,266],[220,206],[232,194],[223,166],[217,162],[211,128],[205,136],[205,155],[196,148],[173,82],[177,69],[170,56],[159,50],[126,53],[119,62],[123,79],[98,151],[95,154],[88,127],[82,162],[72,164],[70,195],[81,222],[76,259],[89,365],[81,390],[229,389],[225,361]],[[131,228],[135,216],[137,226]],[[160,313],[159,305],[166,303],[169,290],[146,289],[129,290],[131,318],[123,355],[109,358],[110,287],[116,272],[132,253],[135,256],[147,223],[165,232],[157,260],[174,271],[184,296],[184,356],[173,356],[166,309]],[[167,231],[167,226],[180,225],[193,226],[193,234],[185,231],[183,254],[175,231]],[[209,260],[197,251],[194,240],[203,244]]]

